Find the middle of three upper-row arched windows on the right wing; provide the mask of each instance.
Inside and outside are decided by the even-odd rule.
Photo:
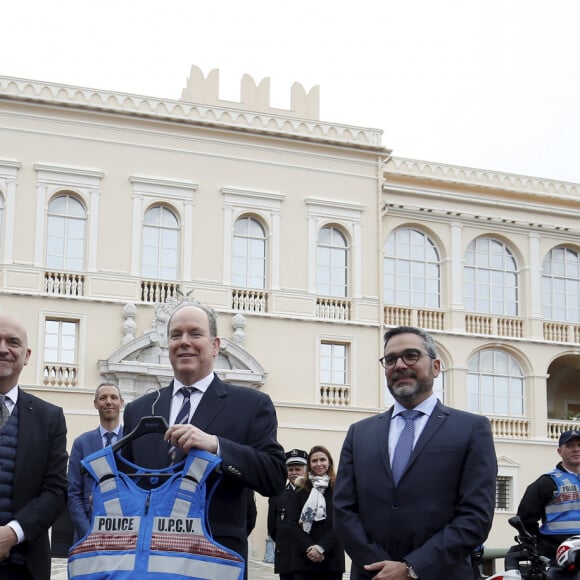
[[[503,242],[487,237],[471,242],[463,276],[467,311],[517,316],[517,264]]]

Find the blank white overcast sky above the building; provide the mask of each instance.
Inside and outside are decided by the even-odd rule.
[[[393,154],[580,183],[578,0],[14,0],[0,75],[179,99],[191,65],[320,86]],[[1,104],[0,104],[1,106]],[[0,157],[10,156],[0,141]]]

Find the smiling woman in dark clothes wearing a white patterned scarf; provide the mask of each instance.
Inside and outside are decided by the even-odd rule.
[[[340,580],[344,550],[334,533],[333,493],[336,474],[328,449],[316,445],[308,454],[308,477],[296,480],[290,517],[294,528],[294,580]]]

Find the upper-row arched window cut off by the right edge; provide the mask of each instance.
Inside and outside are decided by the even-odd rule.
[[[580,256],[553,248],[542,265],[542,306],[546,320],[580,322]]]

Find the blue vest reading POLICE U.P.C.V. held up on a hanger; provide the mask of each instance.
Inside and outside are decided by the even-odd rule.
[[[82,464],[96,480],[92,526],[71,547],[70,580],[241,580],[244,560],[218,544],[206,524],[206,479],[221,459],[192,450],[176,466],[138,473],[168,474],[155,489],[139,487],[119,472],[113,448]]]

